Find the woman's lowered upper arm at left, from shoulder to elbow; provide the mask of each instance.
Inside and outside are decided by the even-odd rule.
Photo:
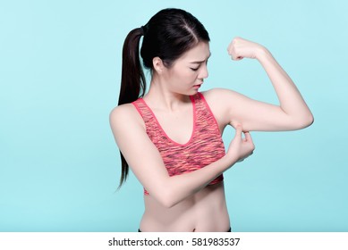
[[[132,104],[118,106],[110,113],[110,125],[116,144],[135,176],[151,196],[158,199],[158,192],[164,190],[169,175],[140,114]]]

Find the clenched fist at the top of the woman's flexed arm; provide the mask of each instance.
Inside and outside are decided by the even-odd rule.
[[[243,39],[242,37],[234,37],[230,45],[227,47],[228,54],[232,60],[242,60],[244,57],[255,59],[258,58],[260,52],[266,48],[257,43]]]

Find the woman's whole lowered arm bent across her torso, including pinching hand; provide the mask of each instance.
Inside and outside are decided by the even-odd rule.
[[[149,139],[145,125],[132,104],[116,107],[110,114],[110,124],[116,144],[131,166],[137,179],[160,204],[171,207],[206,187],[208,183],[252,154],[254,149],[249,133],[242,138],[242,128],[224,157],[197,171],[169,177],[157,147]]]

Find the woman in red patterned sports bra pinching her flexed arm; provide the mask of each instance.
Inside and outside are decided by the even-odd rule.
[[[147,93],[141,37],[140,55],[151,72]],[[140,231],[229,231],[223,172],[252,154],[249,131],[303,129],[313,122],[292,79],[264,46],[236,37],[228,53],[261,63],[279,106],[228,89],[199,92],[208,77],[209,36],[189,12],[157,12],[124,41],[119,105],[110,123],[122,152],[120,185],[130,166],[144,187]],[[225,152],[227,125],[235,135]]]

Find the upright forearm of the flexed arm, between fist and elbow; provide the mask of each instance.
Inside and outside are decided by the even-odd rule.
[[[300,91],[279,63],[276,62],[272,54],[262,47],[259,49],[257,59],[267,72],[267,76],[276,90],[280,108],[283,112],[291,116],[296,122],[311,122],[312,114]]]

